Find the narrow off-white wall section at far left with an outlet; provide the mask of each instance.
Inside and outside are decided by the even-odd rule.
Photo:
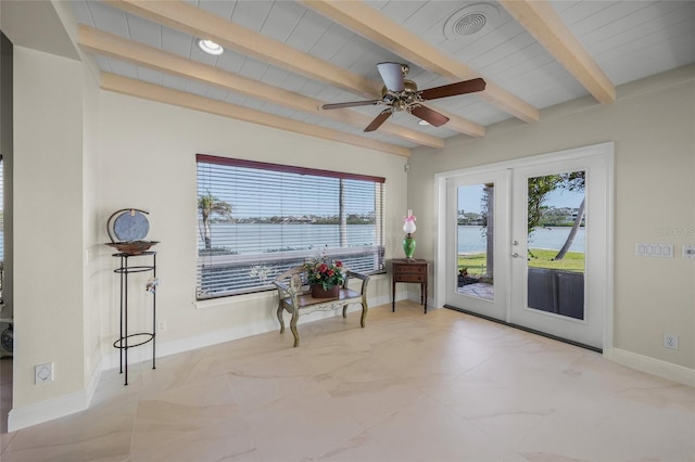
[[[85,386],[83,89],[81,63],[15,47],[12,413]]]

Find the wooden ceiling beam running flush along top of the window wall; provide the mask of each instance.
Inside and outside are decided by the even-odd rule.
[[[208,114],[229,117],[251,124],[263,125],[266,127],[291,131],[308,137],[338,141],[359,147],[366,147],[369,150],[380,151],[405,157],[408,157],[410,155],[410,150],[407,147],[384,143],[377,140],[370,140],[365,137],[350,134],[343,131],[332,130],[330,128],[317,127],[304,121],[280,117],[249,107],[237,106],[235,104],[225,103],[223,101],[213,100],[210,98],[199,97],[198,94],[187,93],[185,91],[174,90],[154,84],[134,80],[127,77],[117,76],[115,74],[101,73],[100,87],[103,90],[108,91],[114,91],[117,93],[128,94],[130,97],[142,98],[144,100],[156,101],[164,104],[173,104],[179,107],[201,111]]]

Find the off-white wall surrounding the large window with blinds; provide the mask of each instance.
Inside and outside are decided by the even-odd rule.
[[[275,316],[277,294],[195,301],[197,187],[195,154],[250,158],[261,162],[341,170],[387,178],[387,257],[400,255],[401,217],[406,205],[406,157],[378,153],[342,143],[313,139],[210,114],[139,100],[113,92],[101,93],[101,217],[127,207],[150,211],[149,239],[161,241],[157,251],[157,319],[167,330],[157,334],[163,355],[279,329]],[[101,227],[101,224],[100,224]],[[105,227],[101,227],[106,242]],[[117,279],[109,275],[117,261],[111,249],[98,249],[104,268],[105,322],[101,339],[104,355],[113,358],[117,332]],[[394,254],[395,253],[395,254]],[[135,280],[134,284],[143,284]],[[144,285],[142,285],[144,287]],[[134,292],[131,307],[146,312],[144,290]],[[387,277],[372,279],[371,305],[390,299]],[[137,315],[136,315],[137,316]],[[320,313],[303,317],[317,319]],[[147,326],[149,318],[135,322]],[[291,345],[288,338],[288,346]],[[142,358],[151,351],[140,348]],[[137,355],[137,350],[132,350]],[[109,365],[113,365],[111,362]]]

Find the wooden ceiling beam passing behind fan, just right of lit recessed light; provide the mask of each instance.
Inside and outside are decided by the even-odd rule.
[[[366,99],[381,98],[383,82],[369,80],[182,1],[105,0],[104,3],[193,37],[207,38],[312,80]],[[483,126],[463,117],[452,114],[450,119],[447,128],[464,134],[481,137],[485,132]]]

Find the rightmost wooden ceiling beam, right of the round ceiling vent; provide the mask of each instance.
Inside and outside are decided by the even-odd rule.
[[[500,0],[500,3],[602,104],[616,101],[616,88],[545,0]]]

